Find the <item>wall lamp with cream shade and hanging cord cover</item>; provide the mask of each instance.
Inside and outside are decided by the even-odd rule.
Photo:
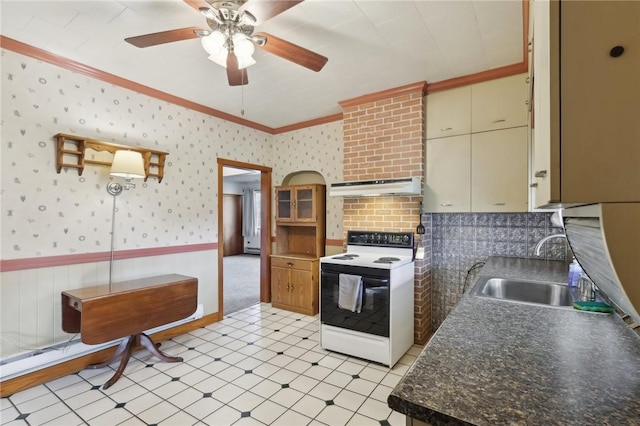
[[[144,160],[142,154],[136,151],[116,151],[111,163],[111,176],[123,177],[124,185],[118,182],[109,182],[107,192],[113,195],[113,210],[111,212],[111,256],[109,258],[109,286],[113,276],[113,237],[116,225],[116,197],[122,193],[123,189],[129,190],[136,187],[132,179],[141,179],[146,176],[144,171]]]

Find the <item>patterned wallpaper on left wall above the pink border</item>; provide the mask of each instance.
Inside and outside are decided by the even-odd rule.
[[[169,152],[162,183],[117,198],[116,250],[216,242],[217,157],[272,166],[257,130],[11,51],[1,78],[2,259],[109,250],[108,168],[57,174],[57,133]]]

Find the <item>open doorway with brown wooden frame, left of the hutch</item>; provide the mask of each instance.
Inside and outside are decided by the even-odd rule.
[[[254,179],[259,182],[259,254],[245,254],[246,246],[242,238],[242,210],[243,198],[246,195],[225,193],[225,171],[229,174],[254,174]],[[231,172],[231,173],[229,173]],[[257,175],[257,176],[256,176]],[[229,182],[229,180],[227,180]],[[228,185],[226,185],[228,187]],[[236,191],[237,192],[237,191]],[[227,195],[235,195],[228,197]],[[240,200],[240,201],[238,201]],[[240,211],[240,214],[238,214]],[[269,255],[271,254],[271,168],[257,164],[242,163],[233,160],[218,158],[218,312],[226,315],[225,309],[225,288],[229,295],[237,292],[237,288],[229,286],[242,285],[243,280],[252,279],[247,271],[238,268],[238,262],[253,262],[250,265],[259,263],[258,270],[254,272],[259,280],[259,301],[271,301],[271,274]],[[239,231],[240,230],[240,231]],[[230,237],[234,235],[234,237]],[[253,239],[252,239],[253,240]],[[252,246],[256,245],[252,241]],[[242,257],[245,257],[242,259]],[[225,265],[229,271],[225,271]],[[228,274],[227,274],[228,272]],[[232,275],[229,275],[232,274]],[[226,280],[225,280],[226,276]],[[227,281],[228,285],[225,285]],[[231,303],[229,303],[232,307]]]

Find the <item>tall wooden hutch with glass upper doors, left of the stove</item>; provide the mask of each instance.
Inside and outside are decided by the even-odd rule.
[[[279,186],[276,248],[271,256],[271,303],[307,315],[318,313],[319,258],[326,241],[325,185]]]

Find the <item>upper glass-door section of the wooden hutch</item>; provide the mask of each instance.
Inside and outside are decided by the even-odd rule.
[[[323,190],[322,185],[276,188],[276,222],[317,222]]]

